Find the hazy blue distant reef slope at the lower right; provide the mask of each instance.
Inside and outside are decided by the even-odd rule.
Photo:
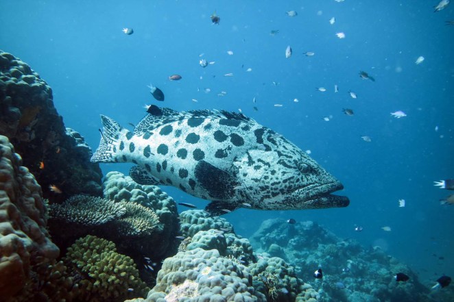
[[[311,221],[295,225],[282,219],[264,221],[250,242],[257,252],[283,255],[298,277],[313,280],[319,301],[431,301],[427,288],[405,264],[378,247],[364,249],[355,240],[337,238]],[[322,281],[313,278],[319,266]],[[396,282],[399,272],[410,280]]]

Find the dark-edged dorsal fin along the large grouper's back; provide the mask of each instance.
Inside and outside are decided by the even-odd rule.
[[[159,108],[156,105],[151,105],[147,112],[149,114],[147,114],[134,128],[134,134],[140,135],[145,131],[156,129],[162,125],[181,121],[186,118],[215,118],[242,122],[254,121],[252,118],[248,118],[242,113],[228,112],[226,110],[190,110],[188,112],[178,112],[170,108]]]

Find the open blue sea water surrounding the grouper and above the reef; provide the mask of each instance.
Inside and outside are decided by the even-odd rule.
[[[121,125],[138,123],[143,105],[158,103],[151,83],[165,93],[158,105],[174,110],[241,108],[311,150],[350,197],[342,209],[236,210],[225,217],[237,234],[250,236],[267,218],[312,220],[338,236],[381,246],[425,284],[453,275],[454,205],[440,205],[449,191],[433,181],[454,178],[454,25],[445,25],[454,19],[454,5],[434,13],[437,0],[283,2],[1,0],[0,49],[47,81],[65,125],[93,149],[99,114]],[[219,25],[210,20],[215,10]],[[288,10],[298,16],[287,16]],[[134,34],[123,34],[123,27]],[[272,29],[278,34],[270,35]],[[287,45],[291,58],[285,58]],[[425,61],[417,65],[420,55]],[[202,68],[202,58],[215,64]],[[361,70],[377,81],[361,79]],[[182,80],[169,81],[174,73]],[[217,96],[221,91],[227,94]],[[397,110],[407,116],[393,118]],[[101,168],[127,173],[129,166]],[[164,189],[178,202],[206,205]],[[363,231],[355,232],[355,225]]]

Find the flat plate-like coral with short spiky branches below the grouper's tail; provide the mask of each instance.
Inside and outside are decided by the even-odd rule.
[[[74,195],[61,205],[58,203],[49,205],[51,219],[84,226],[103,225],[120,218],[125,213],[124,203],[84,194]]]

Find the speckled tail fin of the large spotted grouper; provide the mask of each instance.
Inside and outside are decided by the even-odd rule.
[[[101,141],[98,149],[91,157],[91,162],[115,162],[115,146],[123,127],[112,118],[102,114],[101,123],[103,128],[103,131],[99,129],[101,131]]]

